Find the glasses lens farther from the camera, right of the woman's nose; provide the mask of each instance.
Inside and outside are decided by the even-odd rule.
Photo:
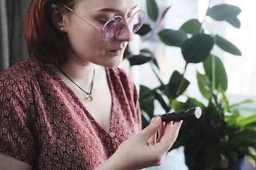
[[[143,10],[140,10],[134,13],[130,21],[131,26],[133,26],[132,32],[137,32],[141,28],[145,18],[146,18],[146,12]]]

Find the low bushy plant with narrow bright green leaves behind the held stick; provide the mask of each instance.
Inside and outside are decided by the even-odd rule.
[[[241,170],[244,156],[255,164],[256,115],[243,117],[237,110],[239,104],[252,101],[230,105],[221,88],[207,99],[206,106],[189,97],[186,103],[172,101],[175,110],[202,108],[198,120],[184,121],[172,149],[184,146],[189,169]]]

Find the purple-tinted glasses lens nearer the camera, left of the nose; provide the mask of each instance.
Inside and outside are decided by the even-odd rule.
[[[113,38],[118,34],[120,31],[120,28],[122,27],[122,18],[119,16],[116,16],[109,20],[102,29],[102,38],[106,41]]]

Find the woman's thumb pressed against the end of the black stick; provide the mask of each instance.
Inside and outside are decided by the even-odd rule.
[[[143,139],[145,139],[146,142],[158,131],[161,122],[161,117],[154,117],[150,121],[150,124],[141,131]]]

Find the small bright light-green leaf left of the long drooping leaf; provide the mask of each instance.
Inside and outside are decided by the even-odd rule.
[[[209,92],[209,89],[211,87],[211,81],[209,80],[208,76],[197,72],[196,78],[197,78],[198,88],[202,96],[204,96],[205,99],[209,99],[211,97],[211,91]]]

